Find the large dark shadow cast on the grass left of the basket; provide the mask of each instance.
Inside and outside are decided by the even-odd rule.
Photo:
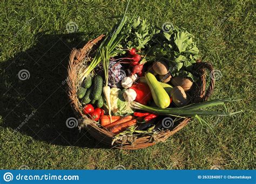
[[[86,130],[66,126],[66,119],[75,117],[65,92],[69,53],[72,47],[82,48],[84,39],[82,33],[41,33],[35,46],[0,63],[0,116],[5,128],[50,144],[107,148]],[[19,79],[22,69],[28,70],[29,79]]]

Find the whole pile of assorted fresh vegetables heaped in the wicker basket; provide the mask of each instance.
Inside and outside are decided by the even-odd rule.
[[[195,117],[209,125],[199,116],[238,113],[206,109],[224,105],[226,110],[224,103],[231,100],[191,103],[198,80],[194,63],[200,58],[193,35],[179,27],[165,32],[140,17],[129,19],[128,4],[78,79],[85,115],[122,136],[163,131],[166,117],[174,122]]]

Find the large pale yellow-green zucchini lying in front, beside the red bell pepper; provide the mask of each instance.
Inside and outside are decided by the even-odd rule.
[[[159,108],[167,108],[171,103],[170,96],[152,73],[145,73],[145,77],[147,85],[150,87],[154,103],[156,103]]]

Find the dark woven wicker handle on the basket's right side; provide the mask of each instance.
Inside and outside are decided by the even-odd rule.
[[[210,72],[210,85],[208,86],[207,90],[205,91],[206,87],[206,73],[205,70],[208,70]],[[196,71],[200,71],[200,83],[202,84],[202,87],[200,89],[200,101],[206,101],[213,93],[214,90],[214,84],[215,84],[215,76],[214,76],[214,68],[212,63],[210,62],[201,62],[198,61],[196,63],[195,67]]]

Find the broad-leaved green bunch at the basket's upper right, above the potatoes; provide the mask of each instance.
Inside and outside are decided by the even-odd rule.
[[[188,77],[192,81],[197,80],[192,72],[193,63],[196,63],[199,58],[199,49],[192,34],[179,27],[174,27],[170,32],[156,31],[153,38],[146,53],[148,61],[155,61],[156,58],[163,59],[169,64],[172,76]]]

